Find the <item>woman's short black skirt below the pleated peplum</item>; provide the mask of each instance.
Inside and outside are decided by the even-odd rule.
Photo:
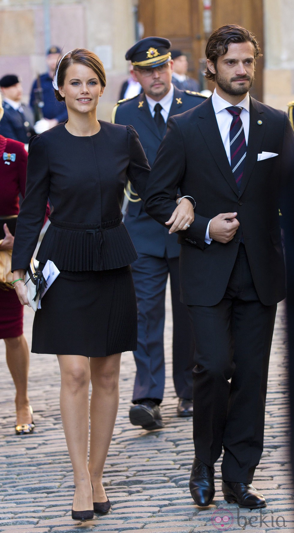
[[[129,265],[62,270],[41,305],[32,327],[34,353],[105,357],[136,350],[137,305]]]

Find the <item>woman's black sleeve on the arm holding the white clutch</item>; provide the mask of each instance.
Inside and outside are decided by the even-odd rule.
[[[12,271],[27,270],[44,224],[50,188],[47,152],[37,135],[29,144],[25,199],[18,215],[12,252]]]

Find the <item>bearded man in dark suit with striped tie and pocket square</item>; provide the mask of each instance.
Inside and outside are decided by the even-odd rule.
[[[215,92],[169,120],[145,208],[164,223],[178,187],[196,200],[194,222],[178,232],[181,300],[195,340],[192,497],[200,506],[213,500],[223,447],[225,500],[257,508],[266,502],[251,482],[263,450],[276,304],[285,296],[279,198],[294,138],[287,114],[249,96],[259,55],[249,31],[219,28],[206,55]]]

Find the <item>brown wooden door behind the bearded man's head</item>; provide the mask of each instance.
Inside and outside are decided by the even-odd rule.
[[[201,88],[213,90],[201,72],[205,68],[207,15],[211,13],[211,30],[236,23],[254,33],[263,49],[263,0],[138,0],[138,21],[144,28],[143,37],[156,35],[170,39],[172,47],[183,50],[189,62],[189,75],[200,82]],[[205,19],[206,17],[206,19]],[[259,58],[256,80],[250,94],[262,100],[263,58]]]

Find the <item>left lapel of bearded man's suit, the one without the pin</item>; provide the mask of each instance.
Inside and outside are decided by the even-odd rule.
[[[230,163],[226,155],[225,147],[222,141],[222,137],[219,133],[219,128],[211,102],[211,96],[201,104],[201,110],[199,110],[198,127],[205,139],[211,156],[214,158],[220,172],[233,189],[235,194],[239,196],[237,184],[235,182]]]

